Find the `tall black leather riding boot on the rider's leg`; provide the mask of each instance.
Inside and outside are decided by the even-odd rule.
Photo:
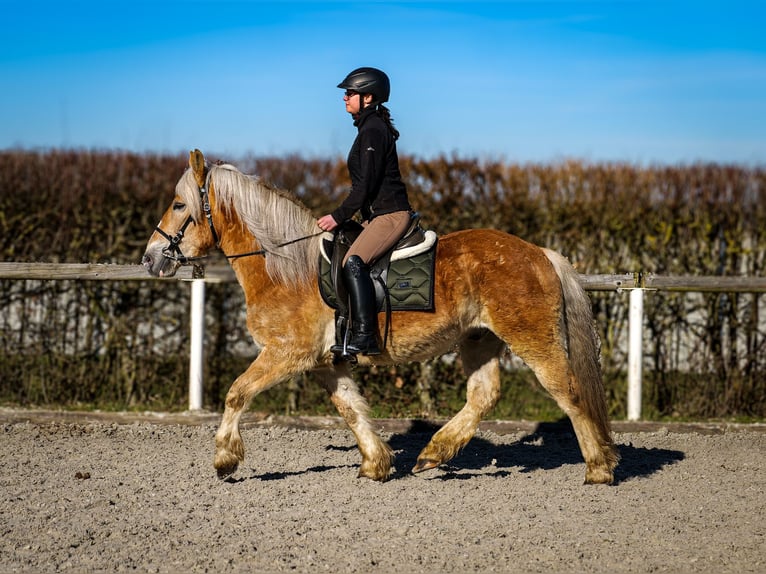
[[[343,281],[351,304],[351,338],[346,351],[352,355],[380,355],[375,286],[369,266],[358,255],[352,255],[343,266]]]

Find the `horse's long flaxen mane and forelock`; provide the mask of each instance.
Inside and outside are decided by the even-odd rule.
[[[196,196],[196,183],[191,170],[186,188]],[[227,215],[236,213],[242,226],[252,233],[266,253],[266,272],[287,284],[315,281],[319,265],[319,237],[316,218],[292,193],[273,188],[258,177],[249,176],[229,164],[210,168],[216,205]],[[197,206],[192,216],[199,220],[199,198],[188,200]],[[289,243],[294,240],[294,243]],[[254,246],[247,246],[249,251]],[[235,255],[228,253],[227,255]]]

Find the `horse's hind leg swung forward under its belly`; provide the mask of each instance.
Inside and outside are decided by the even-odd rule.
[[[486,330],[475,331],[461,341],[460,356],[468,375],[466,404],[431,438],[412,472],[444,464],[471,440],[482,417],[500,397],[500,355],[504,348],[505,343]]]

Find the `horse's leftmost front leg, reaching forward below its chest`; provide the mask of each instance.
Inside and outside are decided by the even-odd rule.
[[[239,463],[245,459],[245,444],[239,434],[239,419],[253,398],[292,375],[306,370],[307,367],[308,365],[288,361],[286,356],[264,347],[247,370],[237,377],[226,394],[226,408],[215,435],[213,466],[218,478],[223,479],[234,474]]]

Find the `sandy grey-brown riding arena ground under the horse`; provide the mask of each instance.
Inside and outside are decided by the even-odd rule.
[[[487,423],[415,476],[433,425],[383,421],[380,484],[336,419],[249,417],[222,482],[218,415],[0,411],[0,571],[766,571],[763,425],[616,424],[605,487],[566,424]]]

